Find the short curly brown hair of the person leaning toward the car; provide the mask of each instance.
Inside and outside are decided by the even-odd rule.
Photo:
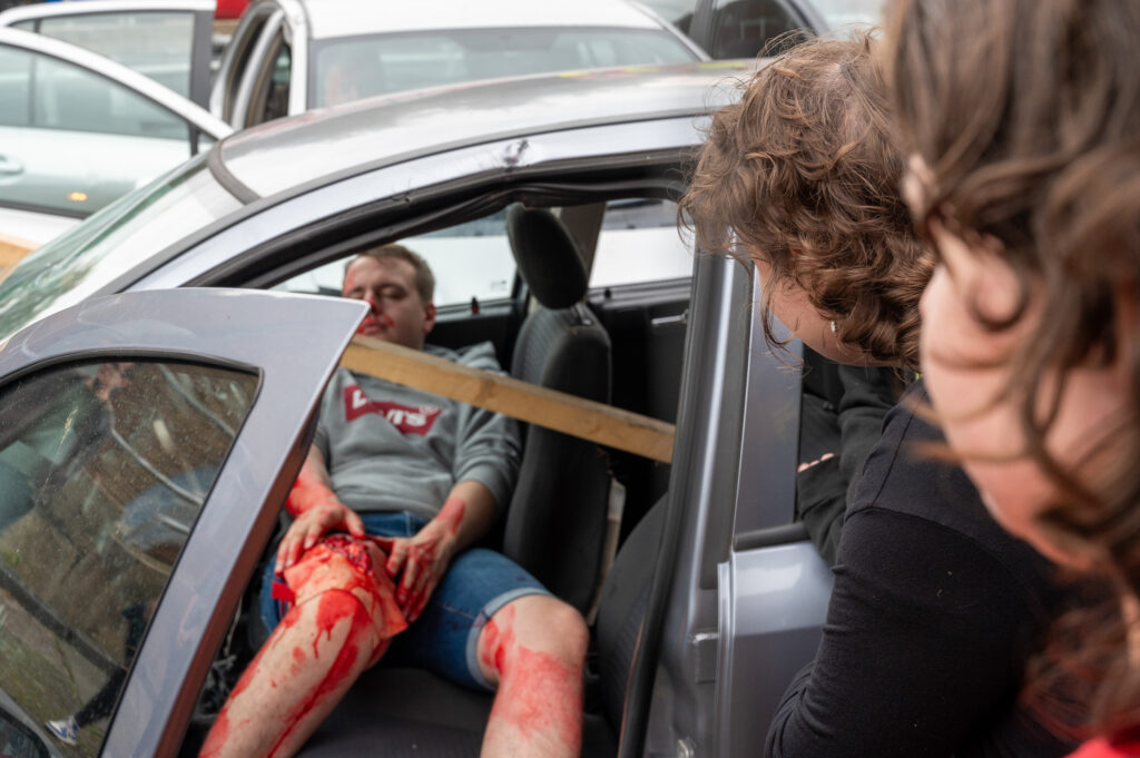
[[[681,213],[705,252],[763,256],[874,362],[918,366],[918,302],[930,278],[898,194],[903,157],[871,38],[791,48],[712,116]],[[773,336],[764,295],[765,336]]]

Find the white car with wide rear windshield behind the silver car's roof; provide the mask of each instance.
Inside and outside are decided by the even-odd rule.
[[[210,109],[242,128],[401,90],[705,57],[625,0],[260,0],[226,49]]]

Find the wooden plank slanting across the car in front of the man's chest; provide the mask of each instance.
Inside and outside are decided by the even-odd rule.
[[[461,366],[421,350],[357,335],[341,365],[653,460],[673,459],[673,424]]]

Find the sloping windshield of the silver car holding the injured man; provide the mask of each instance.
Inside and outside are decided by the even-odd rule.
[[[205,155],[125,195],[7,272],[0,282],[0,340],[89,298],[241,205],[211,176]]]

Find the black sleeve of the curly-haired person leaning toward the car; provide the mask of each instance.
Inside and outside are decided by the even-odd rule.
[[[1020,586],[960,532],[879,508],[848,516],[838,559],[815,662],[765,755],[976,755],[963,745],[1019,686]]]

